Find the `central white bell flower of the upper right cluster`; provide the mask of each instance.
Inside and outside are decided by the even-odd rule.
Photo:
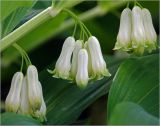
[[[143,25],[142,10],[138,6],[132,9],[132,47],[145,47],[146,35]]]

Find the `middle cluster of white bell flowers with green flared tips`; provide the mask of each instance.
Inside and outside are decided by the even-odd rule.
[[[90,79],[99,80],[103,76],[110,76],[99,41],[94,36],[90,36],[85,43],[68,37],[55,69],[49,72],[53,77],[76,81],[79,87],[85,87]]]

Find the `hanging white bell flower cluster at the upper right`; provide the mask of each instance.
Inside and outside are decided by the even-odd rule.
[[[125,8],[121,14],[120,28],[115,50],[143,54],[145,50],[156,49],[157,35],[148,9],[134,6],[132,11]]]

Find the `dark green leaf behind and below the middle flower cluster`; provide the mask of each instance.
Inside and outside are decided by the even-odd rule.
[[[107,58],[108,68],[114,76],[122,59]],[[52,68],[54,65],[52,65]],[[47,124],[71,124],[81,112],[97,98],[106,94],[112,77],[91,82],[85,89],[65,80],[56,79],[45,70],[40,73],[47,104]]]

